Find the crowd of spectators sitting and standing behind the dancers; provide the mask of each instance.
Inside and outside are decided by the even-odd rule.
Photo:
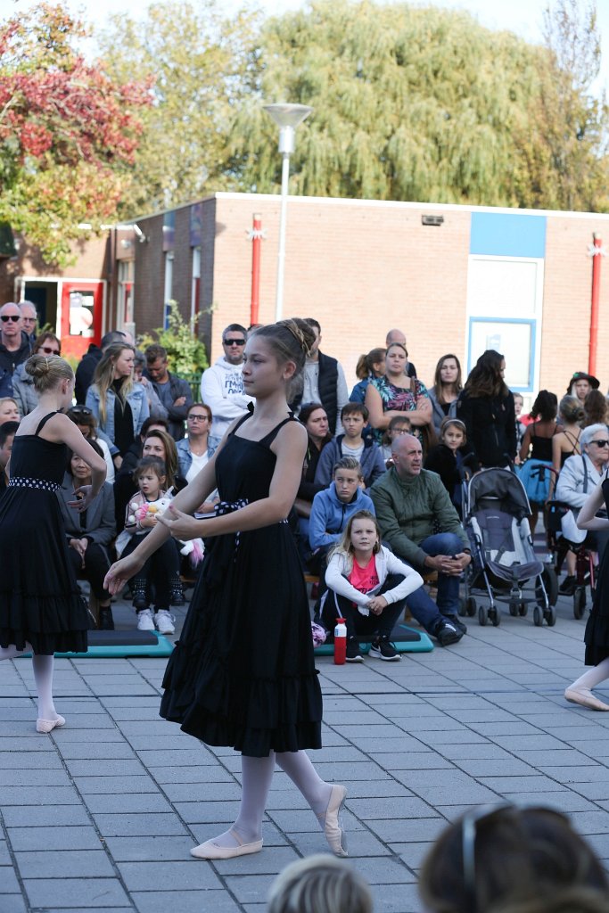
[[[36,404],[24,364],[32,352],[60,354],[61,341],[50,331],[37,334],[31,302],[5,304],[0,320],[1,492],[18,422]],[[455,644],[467,631],[457,605],[459,581],[471,560],[462,523],[464,479],[481,468],[516,467],[530,495],[533,530],[553,496],[577,510],[598,484],[609,458],[607,401],[599,382],[590,374],[573,373],[560,404],[554,394],[541,391],[525,416],[521,395],[512,394],[504,381],[506,365],[499,352],[483,352],[465,383],[457,355],[443,355],[427,388],[409,360],[404,332],[392,329],[383,347],[362,354],[350,396],[341,363],[320,351],[319,321],[307,322],[315,342],[299,389],[291,391],[290,408],[305,425],[309,446],[290,520],[303,571],[320,575],[317,617],[328,625],[328,598],[340,604],[344,597],[332,590],[327,595],[326,569],[333,569],[334,582],[341,576],[328,562],[340,542],[344,551],[350,519],[363,509],[376,517],[383,549],[398,564],[435,576],[435,600],[420,585],[405,601],[438,643]],[[131,539],[154,523],[152,511],[141,521],[134,519],[136,510],[159,497],[171,498],[192,481],[226,429],[252,407],[241,373],[249,331],[238,323],[226,327],[223,354],[202,374],[198,397],[190,383],[170,370],[163,346],[138,352],[123,331],[110,331],[99,346],[89,345],[79,362],[77,402],[68,415],[100,448],[108,481],[103,509],[91,517],[70,516],[63,496],[84,471],[70,461],[61,497],[75,567],[89,575],[104,627],[111,627],[113,620],[108,594],[100,589],[100,572],[115,548],[131,548]],[[148,477],[153,470],[157,473],[158,484],[148,492],[142,489],[144,470]],[[213,511],[217,500],[215,492],[199,512]],[[167,581],[160,582],[158,574],[147,569],[133,587],[137,623],[143,629],[156,624],[169,633],[171,605],[184,602],[178,545],[170,546],[175,553],[163,557]],[[384,552],[379,554],[383,558]],[[568,554],[564,593],[572,587],[573,561]],[[356,560],[350,567],[347,586],[358,576]],[[376,579],[373,564],[371,569]],[[392,576],[391,582],[403,593],[401,581],[395,583]],[[382,587],[383,582],[369,585],[364,602],[377,600]],[[387,618],[381,614],[378,625],[385,635]],[[370,627],[370,621],[364,626]],[[355,644],[351,652],[357,654],[354,661],[361,661]]]

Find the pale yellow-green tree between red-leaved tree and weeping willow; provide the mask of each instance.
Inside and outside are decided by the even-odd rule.
[[[227,137],[247,92],[257,17],[228,20],[219,9],[215,0],[158,3],[142,21],[113,16],[98,36],[112,79],[154,80],[123,216],[236,186]]]

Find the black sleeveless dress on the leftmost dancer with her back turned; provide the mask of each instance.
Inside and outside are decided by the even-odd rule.
[[[0,646],[34,653],[87,650],[89,617],[68,556],[57,491],[68,447],[16,435],[11,478],[0,500]]]

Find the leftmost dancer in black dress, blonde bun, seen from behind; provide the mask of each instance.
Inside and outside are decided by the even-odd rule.
[[[87,650],[89,618],[72,570],[56,492],[68,446],[91,467],[91,484],[70,504],[80,512],[97,496],[106,463],[59,409],[74,393],[74,373],[57,355],[33,355],[38,404],[19,425],[8,463],[10,481],[0,501],[0,659],[31,651],[38,691],[37,731],[63,726],[53,703],[53,654]]]

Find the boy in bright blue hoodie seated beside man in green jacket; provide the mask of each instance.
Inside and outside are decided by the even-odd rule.
[[[315,495],[310,510],[309,544],[318,563],[341,538],[352,514],[357,510],[374,513],[373,502],[362,490],[359,460],[354,456],[341,456],[334,464],[332,478],[329,488]]]

